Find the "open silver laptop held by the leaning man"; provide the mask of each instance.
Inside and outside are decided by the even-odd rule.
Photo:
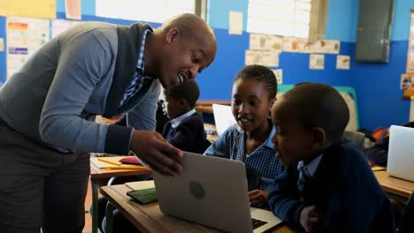
[[[249,207],[242,162],[185,152],[183,166],[179,177],[152,173],[164,214],[228,232],[263,232],[282,222],[270,211]]]

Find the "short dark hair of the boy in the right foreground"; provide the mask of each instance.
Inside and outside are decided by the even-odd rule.
[[[283,94],[285,108],[295,108],[305,129],[321,127],[333,142],[341,139],[349,122],[349,109],[341,94],[322,83],[303,83]]]

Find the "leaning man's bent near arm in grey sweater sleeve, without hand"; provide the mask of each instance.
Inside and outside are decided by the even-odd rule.
[[[69,38],[71,41],[64,39],[55,41],[59,43],[56,51],[59,52],[58,66],[45,96],[39,124],[40,135],[43,141],[55,147],[103,152],[106,144],[113,143],[107,134],[113,132],[117,134],[116,137],[129,138],[131,129],[96,124],[81,115],[98,83],[108,75],[116,53],[112,50],[111,40],[96,36],[94,30],[80,34],[75,39]],[[48,46],[50,44],[39,53]],[[116,130],[110,131],[110,128]]]

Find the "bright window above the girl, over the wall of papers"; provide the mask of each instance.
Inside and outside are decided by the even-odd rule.
[[[247,31],[308,38],[311,0],[249,0]]]

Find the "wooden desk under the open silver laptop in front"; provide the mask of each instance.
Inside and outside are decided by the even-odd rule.
[[[106,229],[106,233],[111,233],[113,207],[119,209],[142,232],[219,232],[216,229],[203,227],[193,222],[183,221],[163,214],[159,210],[157,202],[140,205],[126,196],[128,191],[131,191],[131,189],[125,184],[103,186],[101,188],[100,192],[109,200],[109,205],[106,209],[106,224],[110,229]],[[285,225],[281,225],[272,232],[288,233],[293,232],[293,230]]]

